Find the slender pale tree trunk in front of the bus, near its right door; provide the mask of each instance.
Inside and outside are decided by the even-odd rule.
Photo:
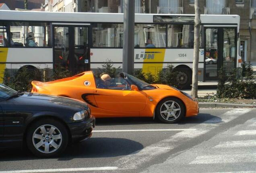
[[[194,25],[194,57],[193,57],[193,74],[192,74],[192,97],[197,98],[198,91],[198,61],[199,61],[199,44],[200,44],[200,8],[199,0],[195,0],[195,25]]]

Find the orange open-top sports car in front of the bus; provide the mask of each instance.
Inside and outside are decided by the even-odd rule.
[[[87,71],[52,82],[32,81],[32,93],[85,101],[96,118],[153,117],[177,123],[198,114],[198,102],[174,87],[148,84],[124,72],[118,78],[106,80],[107,76],[95,78],[92,71]]]

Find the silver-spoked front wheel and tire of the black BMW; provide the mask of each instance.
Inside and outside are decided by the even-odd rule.
[[[26,141],[29,150],[37,157],[55,157],[66,149],[68,131],[55,119],[41,119],[29,127]]]

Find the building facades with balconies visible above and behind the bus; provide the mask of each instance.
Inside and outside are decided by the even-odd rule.
[[[124,0],[45,0],[45,11],[122,13]],[[199,0],[201,14],[240,16],[242,59],[256,66],[256,0]],[[194,14],[194,0],[135,0],[135,13]]]

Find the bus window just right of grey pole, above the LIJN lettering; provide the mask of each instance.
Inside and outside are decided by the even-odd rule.
[[[165,28],[164,24],[135,24],[134,26],[134,45],[136,47],[165,47]]]

